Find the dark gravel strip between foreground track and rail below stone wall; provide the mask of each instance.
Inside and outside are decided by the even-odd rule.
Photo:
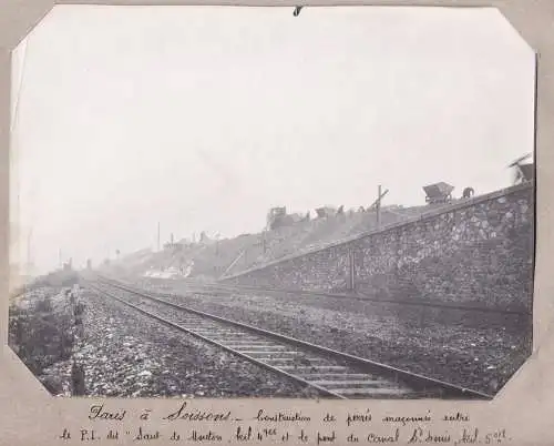
[[[135,284],[160,291],[160,285],[150,281]],[[164,293],[183,293],[182,285],[172,281],[164,285]],[[521,316],[441,314],[435,310],[422,314],[417,307],[325,296],[298,300],[286,294],[186,294],[167,298],[491,394],[525,361],[531,345],[531,324]]]

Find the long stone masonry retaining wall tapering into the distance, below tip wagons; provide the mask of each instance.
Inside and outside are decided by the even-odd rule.
[[[517,185],[225,283],[530,311],[534,189]]]

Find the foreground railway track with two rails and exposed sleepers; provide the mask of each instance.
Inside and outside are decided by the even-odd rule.
[[[335,398],[479,398],[491,395],[177,305],[96,277],[88,286],[142,314]]]

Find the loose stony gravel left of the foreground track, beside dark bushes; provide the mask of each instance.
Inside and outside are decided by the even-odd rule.
[[[85,291],[84,341],[74,354],[90,396],[307,397],[296,383]],[[48,373],[69,395],[71,361]]]

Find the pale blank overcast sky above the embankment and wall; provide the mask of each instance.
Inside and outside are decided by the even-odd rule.
[[[493,9],[58,6],[12,84],[14,254],[32,229],[41,271],[155,247],[158,221],[485,193],[533,150],[534,54]]]

